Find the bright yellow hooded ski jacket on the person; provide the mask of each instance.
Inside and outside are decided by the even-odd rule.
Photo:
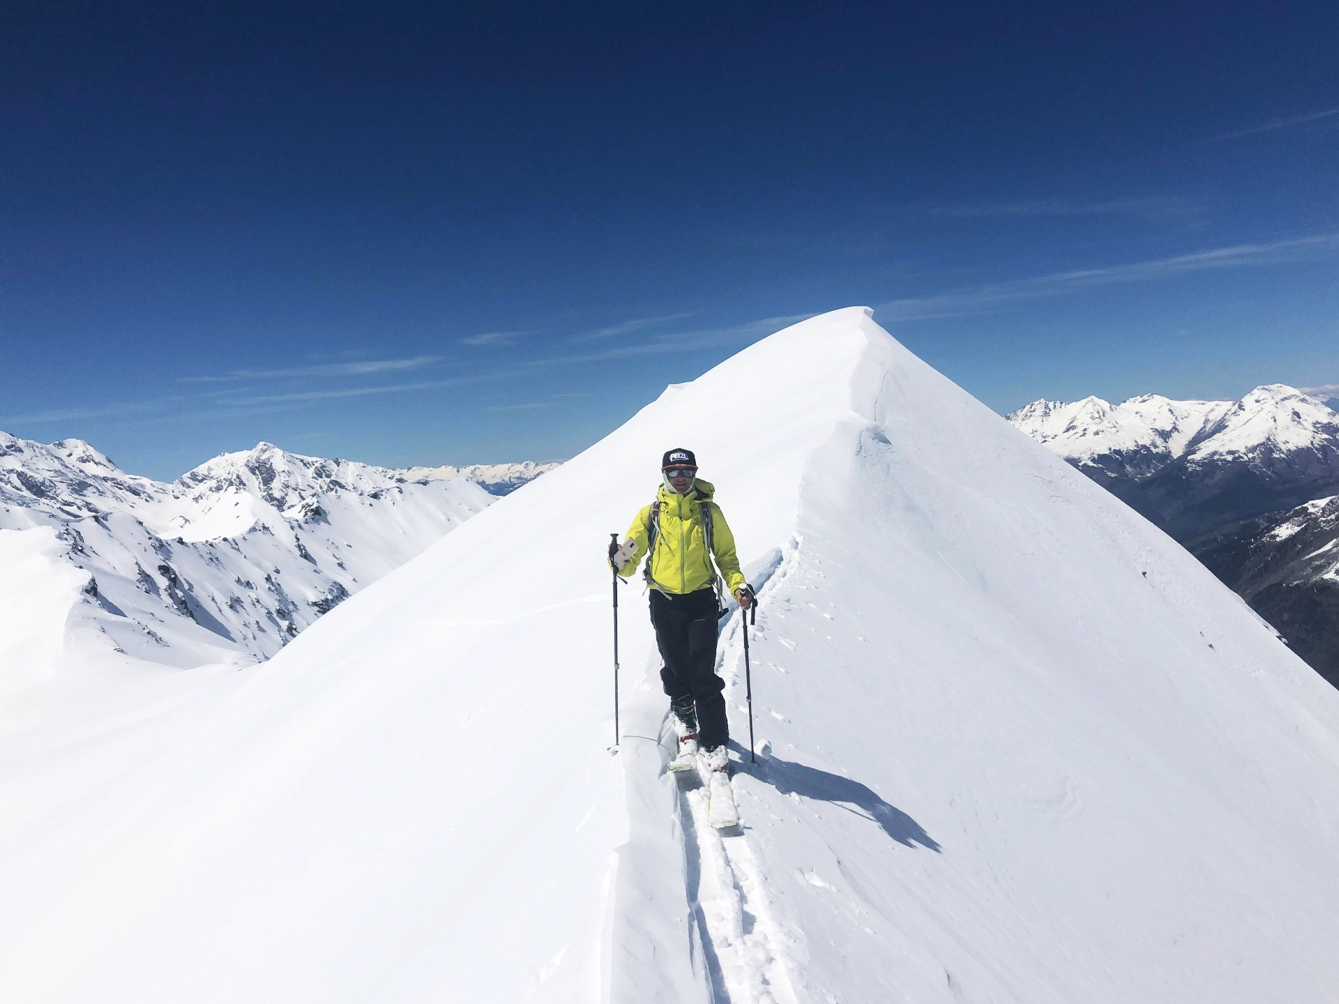
[[[695,481],[686,495],[660,486],[660,533],[656,535],[656,553],[651,556],[652,588],[663,593],[695,593],[710,589],[716,578],[707,556],[707,539],[702,525],[702,507],[711,506],[711,543],[715,552],[716,568],[726,578],[726,588],[734,593],[746,584],[739,570],[739,557],[735,554],[735,535],[726,523],[720,506],[711,501],[715,489],[706,481]],[[641,557],[647,553],[651,537],[651,506],[647,506],[628,527],[628,537],[637,542],[632,560],[619,572],[631,578]]]

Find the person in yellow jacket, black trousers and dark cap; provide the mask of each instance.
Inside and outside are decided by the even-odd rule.
[[[660,470],[656,502],[637,513],[628,541],[611,561],[628,578],[651,546],[645,568],[651,622],[664,661],[660,680],[679,719],[679,756],[671,768],[690,768],[700,742],[710,768],[724,771],[730,726],[722,695],[726,681],[716,676],[719,598],[728,590],[749,609],[753,590],[739,570],[735,537],[712,501],[715,490],[698,479],[694,452],[670,450]],[[722,592],[718,568],[724,576]]]

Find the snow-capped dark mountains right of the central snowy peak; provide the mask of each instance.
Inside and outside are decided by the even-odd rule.
[[[1339,412],[1284,384],[1237,402],[1032,402],[1018,428],[1185,543],[1339,687]]]

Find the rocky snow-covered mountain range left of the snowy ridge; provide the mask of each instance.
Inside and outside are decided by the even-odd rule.
[[[260,443],[166,483],[82,439],[0,432],[0,531],[35,531],[0,533],[0,602],[40,586],[67,636],[155,663],[264,659],[552,466],[400,471]]]

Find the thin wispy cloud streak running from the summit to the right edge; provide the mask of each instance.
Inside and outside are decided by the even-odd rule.
[[[876,311],[880,320],[886,321],[956,317],[984,313],[1015,300],[1059,296],[1089,286],[1144,282],[1166,276],[1206,272],[1210,269],[1277,265],[1316,253],[1331,252],[1336,248],[1339,248],[1339,233],[1297,237],[1268,244],[1237,244],[1228,248],[1194,252],[1193,254],[1180,254],[1172,258],[1154,258],[1152,261],[1075,269],[1073,272],[1054,272],[1047,276],[988,282],[935,296],[889,300],[877,307]]]

